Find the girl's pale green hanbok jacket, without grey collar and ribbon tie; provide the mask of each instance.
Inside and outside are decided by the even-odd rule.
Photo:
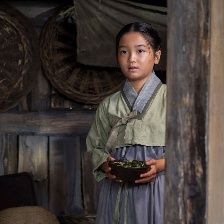
[[[112,149],[130,146],[165,146],[166,85],[160,83],[142,113],[119,127]],[[110,152],[105,148],[112,128],[118,120],[132,111],[123,91],[105,98],[99,105],[95,120],[86,139],[87,150],[92,153],[93,173],[97,181],[106,177],[99,166]]]

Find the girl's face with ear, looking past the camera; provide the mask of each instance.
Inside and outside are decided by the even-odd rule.
[[[144,85],[158,64],[161,51],[154,52],[151,45],[138,32],[123,35],[118,46],[118,63],[121,71],[132,83]]]

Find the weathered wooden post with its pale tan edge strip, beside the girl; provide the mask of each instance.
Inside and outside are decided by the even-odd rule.
[[[168,2],[165,223],[223,223],[222,1]]]

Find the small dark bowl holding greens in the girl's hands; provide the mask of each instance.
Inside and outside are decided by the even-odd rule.
[[[146,173],[150,170],[150,166],[145,165],[143,161],[137,161],[143,164],[141,167],[126,167],[122,165],[121,162],[123,161],[114,160],[109,162],[109,166],[111,167],[110,173],[115,175],[116,179],[118,180],[135,181],[141,179],[140,178],[141,174]]]

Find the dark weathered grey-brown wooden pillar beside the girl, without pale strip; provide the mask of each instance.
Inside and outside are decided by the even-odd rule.
[[[165,223],[169,224],[206,222],[209,18],[208,0],[168,1]]]

